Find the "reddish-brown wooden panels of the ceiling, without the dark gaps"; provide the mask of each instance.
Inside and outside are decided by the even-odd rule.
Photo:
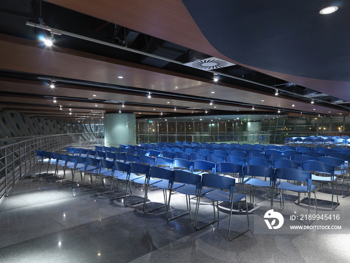
[[[166,3],[159,0],[101,0],[98,2],[49,0],[48,2],[238,63],[226,58],[208,43],[180,0]],[[296,99],[276,97],[274,93],[253,91],[226,83],[214,83],[191,75],[54,45],[44,48],[38,42],[8,35],[0,34],[0,54],[0,69],[3,70],[30,73],[46,76],[46,78],[65,78],[126,87],[120,90],[102,86],[57,83],[52,89],[48,87],[48,81],[40,79],[35,81],[0,79],[0,107],[3,110],[38,117],[98,120],[102,113],[119,109],[124,112],[133,112],[136,116],[156,116],[160,113],[173,115],[174,107],[176,107],[176,114],[192,114],[192,112],[202,114],[205,110],[208,111],[208,114],[211,112],[218,114],[220,111],[222,113],[237,111],[247,113],[251,112],[251,105],[255,105],[255,113],[268,112],[271,109],[266,107],[274,107],[274,113],[277,109],[297,109],[300,112],[326,115],[348,114],[346,111],[312,105]],[[248,65],[242,66],[249,67]],[[260,69],[255,70],[264,72]],[[317,80],[306,81],[304,78],[298,78],[298,81],[294,81],[296,77],[293,76],[274,72],[265,73],[300,85],[303,83],[317,84]],[[120,79],[118,76],[123,78]],[[151,99],[146,97],[148,91],[152,93]],[[166,96],[162,93],[172,95]],[[52,102],[54,97],[57,100],[56,103]],[[108,103],[106,102],[108,100],[119,103]],[[214,100],[215,103],[209,105],[210,100]],[[120,102],[124,102],[125,107],[121,107]],[[59,110],[59,105],[62,106],[62,110]],[[72,115],[68,114],[69,109]]]

